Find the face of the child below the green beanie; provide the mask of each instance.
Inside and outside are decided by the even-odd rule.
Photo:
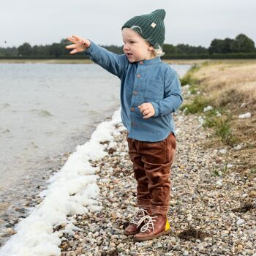
[[[134,30],[124,28],[122,30],[122,37],[124,41],[123,50],[129,62],[155,58],[154,48]]]

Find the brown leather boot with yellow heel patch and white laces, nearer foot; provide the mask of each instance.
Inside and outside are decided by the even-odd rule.
[[[170,224],[167,216],[161,214],[145,216],[140,219],[138,225],[143,222],[145,224],[140,228],[140,233],[136,234],[133,238],[135,241],[151,240],[170,233]]]

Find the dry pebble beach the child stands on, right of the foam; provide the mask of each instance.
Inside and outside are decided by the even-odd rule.
[[[232,161],[225,173],[220,171],[225,170],[223,154],[233,148],[207,148],[209,133],[200,116],[178,112],[175,121],[169,236],[143,242],[124,236],[136,209],[136,184],[127,132],[120,123],[115,125],[114,143],[101,142],[108,156],[91,161],[99,176],[102,210],[73,216],[79,230],[61,236],[62,256],[256,255],[256,178],[233,172]]]

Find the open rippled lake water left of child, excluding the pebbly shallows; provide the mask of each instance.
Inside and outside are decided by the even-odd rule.
[[[89,135],[118,94],[118,78],[96,64],[0,64],[0,189]]]

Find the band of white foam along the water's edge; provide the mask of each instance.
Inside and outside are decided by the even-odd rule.
[[[75,219],[67,218],[67,215],[101,209],[97,202],[99,176],[94,174],[96,169],[90,165],[89,159],[105,157],[106,146],[99,142],[109,140],[113,145],[114,125],[120,122],[120,110],[117,110],[111,121],[99,124],[91,139],[78,146],[61,170],[50,177],[48,189],[40,194],[44,200],[31,211],[29,217],[18,223],[15,227],[17,233],[1,248],[1,256],[61,255],[60,234],[78,230],[72,225]],[[56,225],[66,226],[64,230],[53,233],[53,226]]]

